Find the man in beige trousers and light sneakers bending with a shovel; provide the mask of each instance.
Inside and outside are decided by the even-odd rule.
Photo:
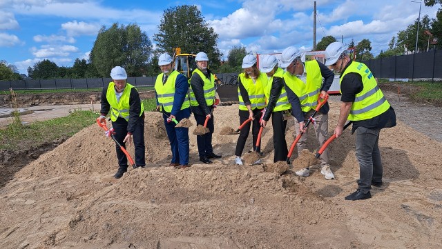
[[[303,130],[304,124],[318,106],[319,97],[324,99],[327,96],[327,91],[332,86],[334,79],[333,72],[323,63],[316,60],[303,63],[300,56],[300,50],[292,46],[286,48],[281,54],[281,67],[287,70],[284,74],[285,89],[291,103],[292,114],[295,117],[296,134],[300,131],[305,132],[296,144],[298,155],[302,150],[307,149],[308,129]],[[329,105],[325,103],[314,117],[313,126],[319,143],[318,148],[327,141],[328,112]],[[325,179],[334,179],[334,174],[329,165],[327,149],[320,155],[320,166],[320,172],[325,176]],[[310,168],[302,168],[296,171],[296,175],[308,177]]]

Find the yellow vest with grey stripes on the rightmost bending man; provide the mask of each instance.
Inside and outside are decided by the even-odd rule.
[[[360,121],[376,117],[390,108],[390,103],[385,99],[378,83],[369,68],[364,63],[352,61],[340,77],[339,84],[343,81],[345,74],[356,72],[362,77],[363,90],[356,94],[352,103],[352,109],[348,120]],[[342,93],[342,92],[341,92]]]

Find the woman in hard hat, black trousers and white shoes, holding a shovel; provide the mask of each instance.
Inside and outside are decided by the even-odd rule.
[[[244,68],[244,72],[238,75],[240,123],[244,123],[247,119],[253,119],[251,122],[253,151],[260,153],[258,151],[260,148],[256,148],[256,141],[258,141],[258,132],[260,130],[260,113],[265,108],[264,90],[267,86],[267,74],[260,72],[256,66],[256,56],[252,54],[246,54],[242,59],[242,68]],[[242,150],[244,150],[247,137],[249,137],[250,126],[251,124],[247,123],[240,130],[240,137],[238,137],[235,150],[235,163],[238,165],[242,165]]]

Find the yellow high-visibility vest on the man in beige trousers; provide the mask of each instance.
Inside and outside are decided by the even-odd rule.
[[[284,74],[285,84],[298,96],[302,112],[316,109],[320,87],[323,83],[323,76],[320,74],[318,61],[306,61],[305,70],[307,72],[305,83],[298,79],[296,75],[292,75],[289,72]]]

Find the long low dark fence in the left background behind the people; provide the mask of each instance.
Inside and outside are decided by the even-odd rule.
[[[236,86],[237,73],[216,74],[222,83]],[[133,86],[154,86],[156,76],[129,77],[127,82]],[[111,78],[94,79],[27,79],[14,81],[0,81],[0,90],[43,90],[43,89],[77,89],[77,88],[103,88],[111,82]]]

